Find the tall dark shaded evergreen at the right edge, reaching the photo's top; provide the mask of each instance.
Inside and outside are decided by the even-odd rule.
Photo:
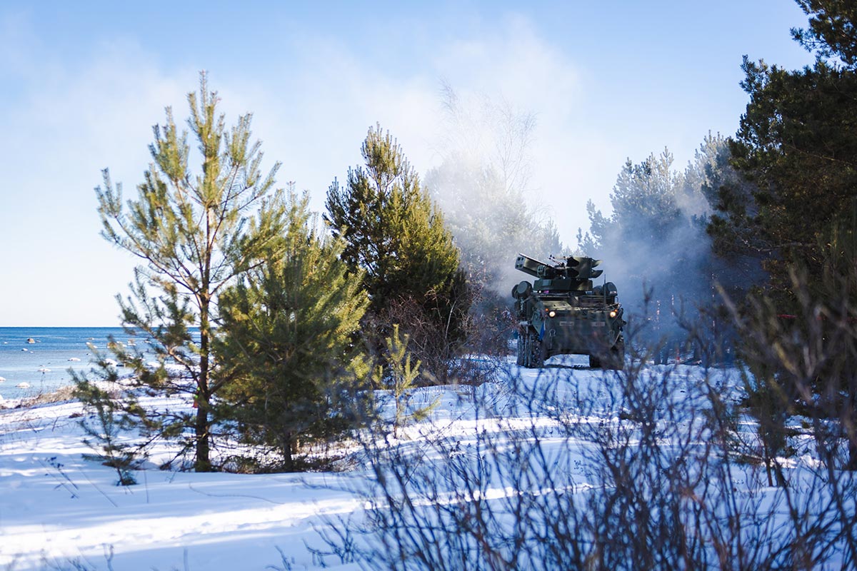
[[[857,6],[797,2],[810,27],[792,33],[816,62],[789,71],[744,58],[750,101],[730,151],[752,184],[720,189],[710,233],[756,255],[769,275],[746,300],[746,323],[736,319],[744,359],[768,370],[751,398],[780,415],[811,417],[819,439],[847,438],[855,469]]]

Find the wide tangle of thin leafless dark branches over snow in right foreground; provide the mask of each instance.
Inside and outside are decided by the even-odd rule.
[[[810,456],[774,456],[782,478],[770,486],[768,466],[746,454],[764,434],[734,369],[649,359],[632,351],[622,372],[560,364],[535,378],[512,374],[499,409],[487,398],[497,385],[483,384],[465,439],[440,423],[414,442],[364,437],[374,478],[356,491],[366,509],[349,523],[360,536],[350,544],[357,561],[441,570],[853,567],[851,474],[828,468],[821,453],[824,469]],[[805,434],[791,438],[814,437]],[[327,540],[337,544],[336,534]]]

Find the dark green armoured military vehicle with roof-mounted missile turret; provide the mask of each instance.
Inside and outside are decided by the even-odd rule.
[[[512,288],[518,317],[518,365],[536,368],[559,354],[589,355],[591,367],[621,369],[624,311],[612,282],[592,287],[601,260],[551,257],[545,264],[518,254],[515,269],[536,277]]]

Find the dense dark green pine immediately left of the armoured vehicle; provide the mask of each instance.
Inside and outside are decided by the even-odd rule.
[[[362,153],[365,165],[348,171],[344,187],[333,181],[325,219],[345,239],[345,262],[364,272],[371,314],[381,323],[378,340],[399,323],[412,339],[422,339],[423,363],[438,362],[428,354],[438,340],[440,360],[451,358],[470,306],[458,248],[389,133],[369,128]],[[408,321],[392,310],[407,314]]]

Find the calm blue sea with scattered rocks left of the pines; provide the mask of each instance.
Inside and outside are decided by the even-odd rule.
[[[0,396],[35,396],[71,384],[69,369],[92,366],[87,343],[105,349],[109,336],[129,339],[121,327],[0,327]]]

